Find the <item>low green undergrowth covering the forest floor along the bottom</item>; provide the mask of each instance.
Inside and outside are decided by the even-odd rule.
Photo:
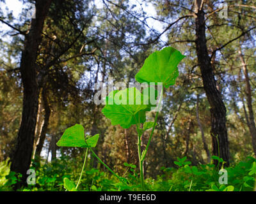
[[[77,164],[77,165],[74,165]],[[191,166],[186,157],[178,158],[177,168],[162,167],[156,179],[145,179],[145,191],[253,191],[255,190],[256,159],[248,157],[227,170],[227,184],[220,184],[221,174],[214,164]],[[82,161],[61,157],[56,161],[38,166],[36,184],[23,187],[18,191],[65,191],[63,180],[79,179],[79,169]],[[134,164],[124,163],[125,172],[120,175],[126,182],[120,182],[108,171],[102,171],[87,166],[84,170],[81,184],[77,191],[141,191],[139,170]],[[0,163],[0,191],[12,191],[12,185],[19,176],[10,172],[7,161]],[[74,184],[74,183],[72,183]]]

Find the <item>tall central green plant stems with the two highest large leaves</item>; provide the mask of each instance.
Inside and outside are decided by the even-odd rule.
[[[136,74],[135,79],[140,83],[147,84],[157,84],[162,83],[164,87],[168,88],[170,85],[175,84],[176,78],[179,76],[179,71],[177,65],[185,56],[180,54],[178,50],[172,47],[166,47],[161,51],[156,51],[151,54],[144,62],[140,71]],[[154,73],[154,74],[152,74]],[[149,87],[146,89],[147,93],[152,94],[155,93],[156,90],[154,88]],[[129,95],[129,93],[132,93]],[[151,142],[152,135],[154,133],[154,129],[156,127],[157,117],[159,114],[159,108],[161,105],[161,100],[163,98],[163,87],[161,89],[159,101],[156,107],[156,116],[154,122],[145,122],[145,113],[150,110],[154,105],[151,103],[146,103],[145,101],[150,101],[150,94],[144,94],[145,89],[141,93],[136,88],[128,88],[122,91],[113,91],[109,94],[106,99],[106,106],[102,109],[102,113],[111,119],[111,123],[113,125],[120,124],[122,128],[129,128],[132,124],[136,124],[137,134],[138,134],[138,157],[140,160],[140,178],[141,178],[141,189],[144,189],[144,178],[143,178],[143,161],[147,155],[148,147]],[[115,103],[115,96],[118,95],[120,100],[123,103]],[[147,97],[143,98],[141,97]],[[151,98],[154,96],[151,96]],[[139,98],[141,103],[135,103],[136,99]],[[131,100],[132,99],[132,100]],[[114,103],[109,104],[109,101]],[[136,104],[136,105],[134,105]],[[137,105],[138,104],[138,105]],[[125,117],[122,117],[124,116]],[[129,118],[127,120],[127,117]],[[143,129],[140,128],[140,124],[143,123]],[[147,146],[143,152],[141,152],[141,136],[144,131],[152,128],[150,133],[150,137],[148,139]]]

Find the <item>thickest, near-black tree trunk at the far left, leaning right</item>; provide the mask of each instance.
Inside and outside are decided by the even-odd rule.
[[[20,74],[23,85],[22,120],[12,157],[11,171],[22,174],[20,184],[26,184],[26,172],[31,163],[38,112],[38,84],[36,82],[36,57],[42,40],[41,33],[45,17],[52,0],[36,1],[36,18],[31,21],[29,33],[25,36],[24,50],[20,60]],[[20,187],[18,183],[15,188]]]

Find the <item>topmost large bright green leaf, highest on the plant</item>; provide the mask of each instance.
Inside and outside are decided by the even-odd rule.
[[[162,82],[168,88],[175,84],[179,76],[178,64],[185,56],[172,47],[156,51],[145,60],[140,71],[135,75],[137,82]]]

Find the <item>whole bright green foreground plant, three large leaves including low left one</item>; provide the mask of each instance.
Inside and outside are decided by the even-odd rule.
[[[185,56],[180,54],[178,50],[172,47],[166,47],[161,51],[156,51],[151,54],[144,62],[140,71],[136,74],[135,79],[137,82],[146,83],[148,85],[161,83],[164,87],[168,88],[170,85],[175,84],[175,80],[179,75],[177,65]],[[152,75],[154,73],[154,75]],[[150,95],[154,94],[154,96]],[[138,134],[138,157],[140,160],[140,182],[141,189],[144,190],[144,172],[143,172],[143,161],[147,155],[148,147],[154,129],[157,124],[157,117],[159,114],[159,109],[161,105],[161,100],[163,98],[163,87],[161,87],[161,93],[157,106],[152,104],[151,98],[156,99],[157,91],[154,87],[147,87],[140,92],[135,87],[129,87],[127,89],[118,91],[112,91],[106,98],[106,105],[102,109],[102,113],[111,119],[112,125],[119,124],[122,128],[130,128],[131,125],[136,125],[136,130]],[[117,99],[117,101],[116,101]],[[150,111],[151,108],[156,108],[156,116],[154,122],[146,121],[146,112]],[[140,124],[143,124],[143,128],[140,128]],[[152,128],[150,137],[145,150],[141,152],[141,137],[143,133]],[[99,135],[92,136],[91,138],[84,139],[84,129],[83,126],[76,124],[75,126],[68,128],[61,139],[58,141],[58,146],[65,147],[85,147],[86,156],[88,149],[92,154],[102,163],[106,168],[108,168],[113,175],[115,175],[121,182],[121,179],[115,172],[113,172],[106,164],[104,164],[101,159],[93,152],[92,147],[95,147]],[[84,164],[86,162],[86,157],[84,158]],[[84,170],[84,164],[81,171],[81,176]],[[77,187],[79,186],[81,176],[77,182]],[[66,184],[66,183],[67,184]],[[67,190],[74,189],[74,186],[70,183],[70,180],[64,180],[64,186]]]

